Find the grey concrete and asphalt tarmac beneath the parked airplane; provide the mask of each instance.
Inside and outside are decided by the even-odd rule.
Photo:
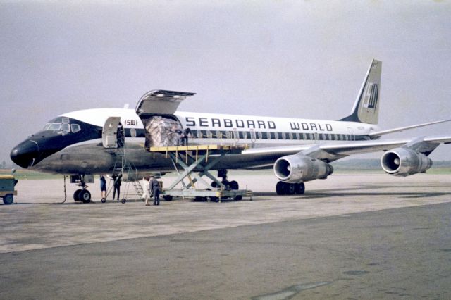
[[[61,204],[63,180],[20,180],[0,299],[451,298],[451,175],[332,175],[293,196],[271,173],[229,180],[252,201],[102,204],[97,179],[94,203],[68,184]]]

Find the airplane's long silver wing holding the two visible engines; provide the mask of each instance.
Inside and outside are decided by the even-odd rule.
[[[431,153],[440,144],[450,144],[451,136],[440,137],[416,137],[414,139],[387,139],[387,140],[372,140],[362,142],[340,142],[340,143],[323,143],[315,146],[278,146],[278,147],[264,147],[247,149],[242,154],[252,156],[252,158],[259,158],[268,160],[268,158],[277,158],[290,154],[297,154],[302,152],[311,158],[318,158],[323,161],[331,162],[337,159],[349,156],[351,154],[364,154],[378,151],[388,151],[390,149],[404,146],[407,144],[421,144],[422,153]],[[263,167],[263,166],[262,166]]]

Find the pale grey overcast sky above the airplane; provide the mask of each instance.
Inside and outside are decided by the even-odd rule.
[[[196,92],[183,111],[336,120],[373,58],[383,129],[451,118],[450,16],[424,0],[0,0],[0,162],[56,115],[150,89]]]

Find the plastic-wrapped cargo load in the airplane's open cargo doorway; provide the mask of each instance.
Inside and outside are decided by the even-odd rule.
[[[176,120],[154,116],[146,122],[146,148],[178,146],[182,127]]]

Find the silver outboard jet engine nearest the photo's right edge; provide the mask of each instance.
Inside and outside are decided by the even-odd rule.
[[[381,158],[383,170],[395,176],[409,176],[431,168],[432,161],[426,155],[409,148],[395,148]]]

